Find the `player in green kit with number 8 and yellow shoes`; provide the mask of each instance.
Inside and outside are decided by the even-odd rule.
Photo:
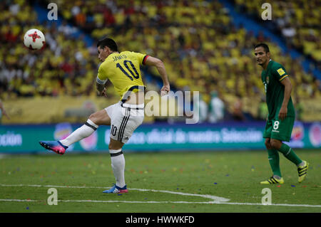
[[[271,59],[269,47],[265,43],[255,46],[254,54],[258,65],[263,68],[262,81],[265,87],[268,117],[263,137],[273,175],[260,184],[283,184],[280,171],[281,152],[290,162],[297,165],[299,183],[305,179],[309,164],[297,157],[289,142],[295,122],[295,108],[291,98],[292,84],[285,68]],[[277,152],[278,151],[278,152]]]

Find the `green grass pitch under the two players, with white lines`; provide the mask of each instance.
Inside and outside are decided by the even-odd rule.
[[[115,182],[108,153],[3,156],[0,212],[321,212],[321,152],[295,152],[310,162],[305,181],[280,154],[285,184],[268,186],[259,184],[272,175],[265,151],[125,152],[128,194],[102,193]],[[48,204],[50,188],[58,205]],[[272,206],[261,204],[264,188]]]

